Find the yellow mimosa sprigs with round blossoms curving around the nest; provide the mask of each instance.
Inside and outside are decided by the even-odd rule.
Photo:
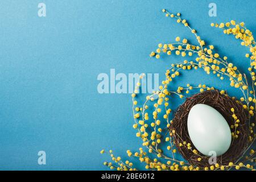
[[[224,80],[225,77],[228,78],[230,81],[230,86],[241,90],[243,97],[241,97],[240,101],[237,102],[243,103],[243,108],[249,111],[249,140],[251,144],[255,141],[255,123],[251,122],[251,118],[254,116],[256,108],[254,90],[254,86],[256,85],[254,72],[256,69],[256,47],[253,34],[245,28],[245,23],[243,22],[238,24],[232,20],[228,23],[211,24],[211,26],[222,28],[225,34],[233,34],[237,39],[242,40],[242,46],[249,47],[250,53],[247,53],[245,57],[250,59],[250,67],[248,69],[251,76],[250,80],[252,81],[252,86],[250,89],[248,83],[249,80],[247,79],[246,75],[240,72],[235,65],[230,63],[228,61],[228,57],[220,56],[216,51],[214,51],[213,45],[206,46],[205,41],[197,35],[196,30],[189,26],[187,20],[181,18],[180,13],[172,14],[167,10],[162,11],[166,17],[175,18],[177,23],[181,23],[187,27],[192,34],[195,35],[198,45],[193,45],[189,43],[187,39],[181,39],[179,36],[177,36],[174,43],[159,43],[156,51],[150,53],[150,57],[156,57],[156,59],[159,59],[162,53],[166,53],[167,55],[177,55],[181,57],[193,56],[193,60],[189,61],[185,59],[182,63],[171,64],[171,68],[167,69],[165,73],[166,78],[162,81],[162,85],[159,86],[158,91],[146,96],[146,100],[142,105],[138,105],[138,101],[136,100],[138,89],[141,85],[140,82],[143,76],[140,77],[137,88],[134,90],[134,93],[131,94],[135,122],[133,128],[137,130],[136,136],[142,139],[142,146],[146,148],[146,150],[143,150],[143,148],[139,148],[138,152],[131,152],[128,150],[127,155],[129,157],[137,158],[139,162],[144,163],[146,169],[154,169],[159,171],[208,171],[225,170],[230,168],[247,168],[255,170],[253,165],[243,164],[241,161],[230,162],[227,166],[223,166],[221,164],[205,166],[203,168],[191,166],[191,164],[185,161],[176,159],[175,154],[177,152],[177,148],[175,147],[173,137],[177,134],[175,133],[175,130],[171,132],[168,131],[172,125],[172,109],[169,101],[172,96],[178,96],[180,99],[183,99],[191,92],[191,90],[194,89],[198,90],[199,92],[214,89],[213,87],[205,84],[199,84],[196,86],[187,84],[185,86],[179,86],[175,90],[170,90],[168,85],[170,85],[170,83],[176,77],[179,77],[182,71],[203,69],[203,71],[208,75],[212,73],[220,78],[220,80]],[[224,90],[221,90],[220,93],[226,94]],[[231,125],[230,128],[232,129],[232,137],[236,139],[240,135],[240,120],[237,118],[236,110],[234,108],[230,108],[230,111],[233,113],[232,117],[234,118],[234,125]],[[179,136],[177,135],[177,137]],[[205,158],[205,156],[201,156],[195,148],[192,148],[191,143],[187,143],[181,138],[180,140],[182,142],[179,143],[179,146],[192,151],[193,154],[197,156],[198,161]],[[162,145],[162,143],[164,143],[164,145]],[[251,147],[251,144],[247,149]],[[166,145],[167,150],[164,150],[163,146]],[[104,153],[104,151],[102,150],[101,153]],[[249,155],[245,156],[244,161],[255,163],[255,153],[256,152],[254,152],[254,150],[250,150]],[[105,162],[104,164],[106,166],[117,170],[135,170],[135,168],[132,167],[133,163],[130,163],[128,160],[126,162],[122,162],[121,158],[114,157],[112,151],[110,151],[110,156],[112,156],[115,166],[112,163],[110,165],[110,163]],[[152,158],[151,156],[155,156],[155,158]]]

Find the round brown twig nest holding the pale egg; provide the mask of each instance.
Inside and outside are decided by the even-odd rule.
[[[229,162],[236,162],[241,157],[247,146],[248,127],[246,121],[248,117],[248,111],[243,109],[243,106],[240,102],[225,94],[221,94],[218,90],[208,90],[203,93],[195,94],[192,97],[187,98],[184,104],[179,106],[170,127],[170,132],[175,130],[175,134],[172,135],[174,137],[177,150],[179,150],[183,158],[187,160],[192,166],[209,166],[209,156],[205,156],[200,153],[196,155],[193,153],[192,150],[196,148],[193,146],[193,143],[191,142],[191,139],[188,135],[188,113],[192,106],[196,104],[206,104],[212,106],[222,114],[222,116],[228,122],[229,126],[234,125],[234,118],[232,117],[233,113],[230,110],[232,107],[234,108],[234,113],[236,114],[237,118],[240,119],[239,126],[237,127],[237,130],[240,131],[240,134],[238,134],[238,138],[232,137],[232,143],[229,150],[226,151],[225,154],[217,157],[217,163],[220,165],[228,165]],[[234,132],[234,129],[231,129],[231,131]],[[185,146],[180,147],[179,144],[183,143],[184,141],[191,143],[192,150],[188,150],[188,148]],[[200,162],[197,160],[199,155],[202,156]]]

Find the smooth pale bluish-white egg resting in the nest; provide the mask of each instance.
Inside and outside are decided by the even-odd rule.
[[[230,147],[231,131],[226,119],[213,107],[197,104],[188,114],[188,134],[196,149],[206,156],[224,154]]]

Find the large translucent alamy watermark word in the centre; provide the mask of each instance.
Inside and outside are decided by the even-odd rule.
[[[154,75],[154,77],[153,77]],[[97,76],[100,83],[97,86],[98,93],[134,93],[137,83],[140,81],[141,93],[152,93],[159,87],[159,74],[147,73],[146,75],[139,73],[115,74],[115,69],[110,69],[110,75],[100,73]],[[154,83],[154,84],[153,84]],[[154,86],[153,86],[154,85]],[[138,91],[138,93],[140,93]]]

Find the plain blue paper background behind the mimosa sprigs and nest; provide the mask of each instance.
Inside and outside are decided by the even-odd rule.
[[[47,16],[38,16],[38,3]],[[208,5],[217,5],[217,17]],[[1,1],[0,169],[108,169],[102,148],[125,156],[137,150],[130,94],[99,94],[97,76],[159,73],[178,56],[150,59],[158,43],[195,39],[162,9],[180,12],[207,43],[247,70],[247,48],[212,22],[245,21],[256,32],[255,1]],[[195,74],[194,74],[195,73]],[[205,83],[230,89],[203,71],[187,72],[177,85]],[[180,103],[177,103],[180,104]],[[176,104],[176,105],[177,105]],[[47,164],[38,165],[38,151]]]

